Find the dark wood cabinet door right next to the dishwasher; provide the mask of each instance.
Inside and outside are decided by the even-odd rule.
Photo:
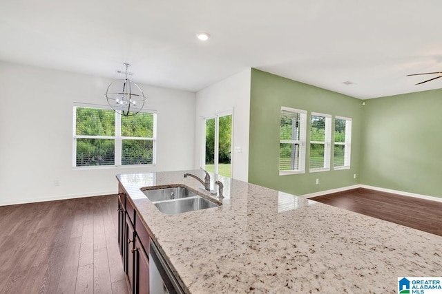
[[[138,236],[135,237],[135,260],[135,293],[148,294],[149,260]]]

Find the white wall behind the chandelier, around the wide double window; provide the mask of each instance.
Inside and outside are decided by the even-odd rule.
[[[195,93],[140,85],[157,110],[157,165],[73,169],[73,103],[106,105],[111,81],[0,62],[0,205],[117,193],[116,174],[193,168]]]

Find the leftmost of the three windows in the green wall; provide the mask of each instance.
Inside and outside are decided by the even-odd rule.
[[[303,174],[305,171],[305,132],[307,112],[281,107],[279,174]]]

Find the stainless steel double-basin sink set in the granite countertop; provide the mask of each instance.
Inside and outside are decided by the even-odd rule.
[[[162,189],[142,188],[148,200],[165,214],[177,214],[200,209],[219,207],[215,201],[203,198],[186,187],[176,186]]]

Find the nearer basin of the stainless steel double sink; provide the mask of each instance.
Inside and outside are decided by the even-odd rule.
[[[176,200],[157,202],[155,203],[155,206],[162,213],[177,214],[199,209],[218,207],[219,204],[211,202],[210,200],[202,198],[201,196],[193,196],[191,198],[181,198]]]

